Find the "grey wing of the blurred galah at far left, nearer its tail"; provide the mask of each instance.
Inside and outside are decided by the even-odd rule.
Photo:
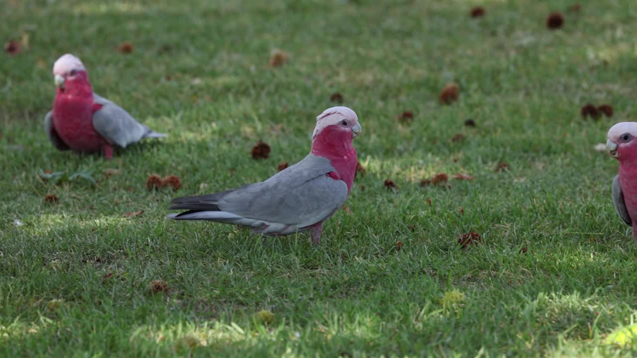
[[[138,123],[124,108],[108,99],[97,94],[93,97],[95,103],[102,105],[102,108],[93,113],[93,127],[109,143],[125,148],[144,137],[165,136]]]

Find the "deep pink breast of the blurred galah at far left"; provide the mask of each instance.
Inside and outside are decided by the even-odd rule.
[[[93,98],[55,96],[53,124],[60,138],[77,152],[97,152],[103,143],[93,127]]]

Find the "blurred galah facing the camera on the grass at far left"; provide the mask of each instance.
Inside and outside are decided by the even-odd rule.
[[[94,94],[89,75],[77,57],[66,54],[57,59],[53,75],[57,86],[55,101],[44,124],[55,148],[101,151],[106,159],[112,159],[113,145],[125,148],[141,138],[166,136],[139,124],[120,106]]]

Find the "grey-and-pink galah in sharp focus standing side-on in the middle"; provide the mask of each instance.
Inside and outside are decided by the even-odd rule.
[[[360,132],[354,111],[328,108],[317,117],[310,154],[302,161],[265,182],[174,199],[170,209],[188,211],[168,218],[248,226],[273,236],[311,230],[318,245],[324,220],[343,206],[352,190],[357,164],[352,140]]]

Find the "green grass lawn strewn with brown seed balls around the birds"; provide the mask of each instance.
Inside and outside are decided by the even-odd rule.
[[[610,200],[617,162],[593,146],[637,117],[637,6],[581,2],[549,31],[573,3],[1,2],[0,40],[26,32],[29,48],[0,56],[0,355],[634,355],[604,344],[637,316],[637,246]],[[468,17],[475,4],[484,18]],[[285,66],[268,66],[273,48]],[[169,138],[113,161],[54,150],[41,123],[66,52]],[[452,81],[459,101],[441,106]],[[164,218],[171,197],[302,159],[333,92],[359,115],[367,174],[319,248]],[[587,102],[615,115],[582,120]],[[269,159],[250,157],[258,140]],[[38,169],[91,170],[97,185]],[[420,187],[440,172],[475,180]],[[154,173],[182,189],[147,190]],[[482,245],[459,248],[468,231]]]

